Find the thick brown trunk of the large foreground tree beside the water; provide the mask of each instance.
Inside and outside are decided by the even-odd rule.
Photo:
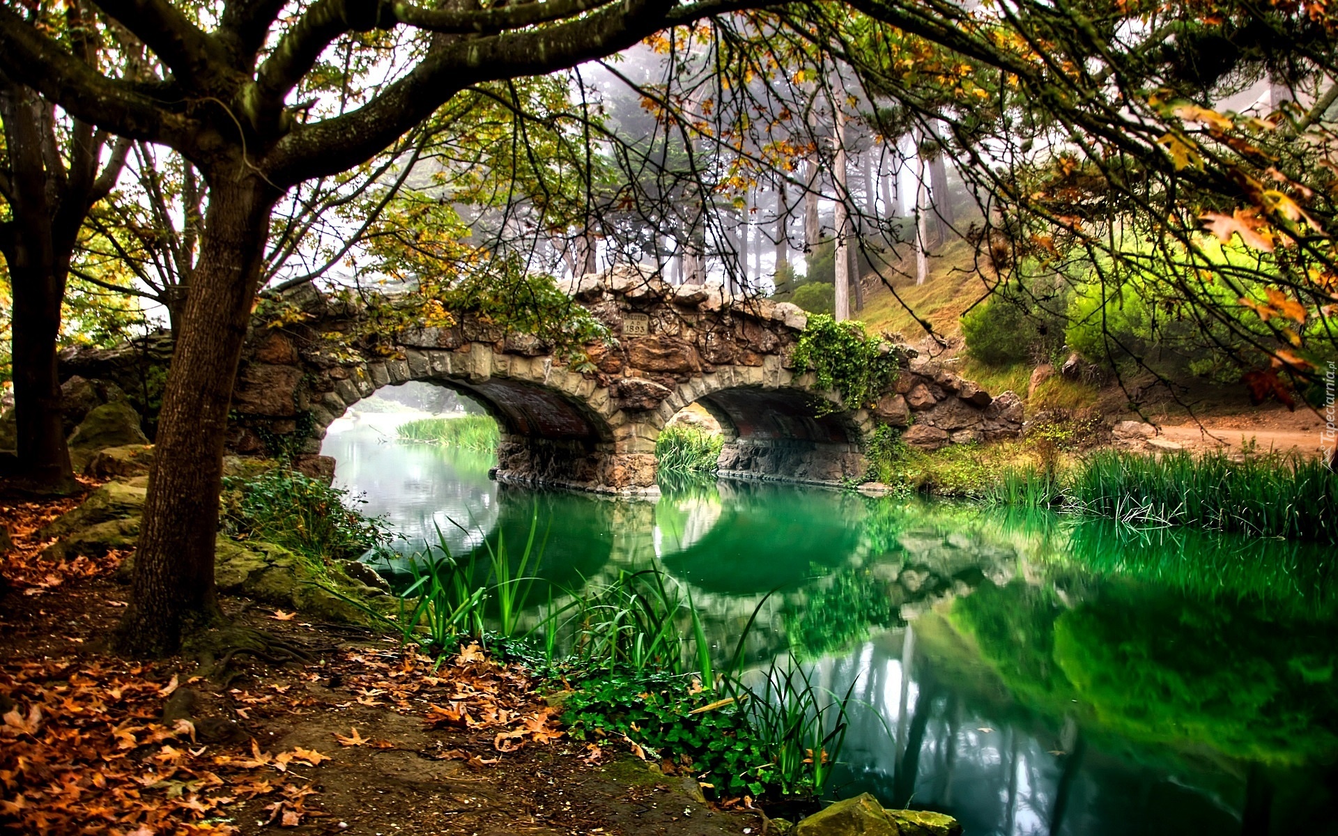
[[[169,654],[218,614],[214,536],[233,381],[280,193],[254,174],[215,173],[199,265],[177,334],[135,551],[122,651]]]

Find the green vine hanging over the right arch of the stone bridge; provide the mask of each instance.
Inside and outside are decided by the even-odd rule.
[[[816,372],[818,385],[840,392],[847,409],[871,407],[896,381],[900,353],[878,337],[868,336],[863,322],[838,322],[826,313],[808,317],[808,326],[795,348],[795,368]],[[820,413],[840,407],[823,401]]]

